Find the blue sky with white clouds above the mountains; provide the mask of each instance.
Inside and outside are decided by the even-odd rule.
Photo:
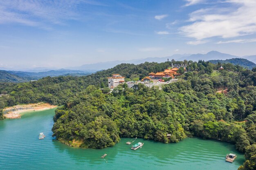
[[[2,0],[0,68],[256,55],[256,0]]]

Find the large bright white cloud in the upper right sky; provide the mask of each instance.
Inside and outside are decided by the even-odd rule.
[[[193,23],[182,26],[181,33],[196,40],[235,38],[256,33],[256,1],[227,0],[226,3],[230,3],[229,7],[200,9],[191,13],[189,21]]]

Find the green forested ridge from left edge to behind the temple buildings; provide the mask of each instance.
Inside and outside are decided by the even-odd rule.
[[[178,63],[178,62],[177,62]],[[151,71],[163,71],[170,63],[119,64],[114,68],[99,71],[87,76],[43,77],[38,81],[20,84],[0,83],[0,109],[5,106],[36,102],[49,102],[54,105],[66,104],[67,99],[83,91],[89,85],[97,88],[108,87],[111,74],[119,73],[126,78],[138,79],[148,76]]]

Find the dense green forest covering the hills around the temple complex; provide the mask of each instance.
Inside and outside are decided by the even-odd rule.
[[[56,109],[52,131],[70,146],[105,148],[114,146],[120,137],[168,143],[195,135],[228,141],[245,152],[247,160],[239,169],[255,170],[256,68],[202,60],[172,62],[187,64],[188,72],[162,90],[144,84],[131,89],[122,84],[108,93],[104,90],[106,77],[113,73],[136,80],[171,66],[171,62],[120,64],[83,77],[2,83],[0,108],[33,102],[63,105]],[[219,70],[221,65],[223,70]]]

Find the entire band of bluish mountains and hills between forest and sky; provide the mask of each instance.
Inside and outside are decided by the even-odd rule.
[[[235,55],[220,53],[218,51],[210,51],[206,54],[175,54],[168,57],[148,57],[143,59],[135,60],[122,60],[122,61],[111,61],[111,62],[99,62],[95,64],[84,64],[77,67],[68,67],[65,69],[55,69],[55,68],[45,68],[38,67],[33,69],[27,69],[27,71],[1,71],[0,70],[0,82],[26,82],[29,80],[37,80],[46,76],[59,76],[59,75],[73,75],[73,76],[82,76],[94,73],[100,70],[106,70],[112,68],[121,63],[129,64],[141,64],[144,62],[166,62],[167,60],[171,61],[172,59],[176,61],[183,60],[192,60],[198,62],[198,60],[205,60],[213,63],[232,63],[239,64],[241,66],[252,69],[255,67],[256,55],[238,57]],[[232,60],[230,60],[232,59]],[[243,60],[241,60],[243,59]],[[249,60],[249,61],[248,61]],[[1,69],[1,68],[0,68]],[[4,68],[7,70],[7,68]]]

